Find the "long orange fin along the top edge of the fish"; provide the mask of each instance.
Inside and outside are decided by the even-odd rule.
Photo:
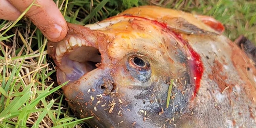
[[[214,18],[157,6],[130,8],[119,15],[133,15],[164,22],[171,30],[185,34],[220,35],[225,30]]]

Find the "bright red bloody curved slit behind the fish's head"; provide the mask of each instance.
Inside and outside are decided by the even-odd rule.
[[[117,16],[118,17],[118,16]],[[187,46],[188,51],[187,54],[191,55],[191,58],[189,59],[189,66],[190,66],[190,72],[191,75],[190,76],[190,80],[192,82],[194,82],[195,84],[195,88],[194,88],[194,94],[192,95],[191,100],[193,100],[195,98],[195,96],[197,95],[197,92],[200,88],[200,81],[203,75],[203,62],[201,61],[201,57],[200,55],[189,45],[187,40],[184,40],[181,36],[181,34],[178,34],[176,32],[174,32],[173,30],[168,28],[168,25],[156,20],[151,20],[148,18],[144,18],[144,17],[139,17],[139,16],[133,16],[133,15],[123,15],[122,17],[129,17],[129,18],[140,18],[146,21],[151,21],[152,24],[155,24],[159,27],[162,27],[164,30],[168,30],[169,34],[171,34],[172,36],[174,36],[174,38],[176,37],[177,40],[179,40],[183,45]]]

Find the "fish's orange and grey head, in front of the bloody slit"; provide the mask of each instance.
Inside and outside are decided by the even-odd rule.
[[[88,120],[91,126],[150,126],[155,120],[149,117],[164,123],[187,106],[194,88],[187,56],[161,26],[127,16],[85,27],[68,25],[68,36],[50,42],[48,50],[58,83],[69,81],[63,87],[69,105],[80,117],[94,116]],[[176,98],[167,108],[171,84],[169,93]]]

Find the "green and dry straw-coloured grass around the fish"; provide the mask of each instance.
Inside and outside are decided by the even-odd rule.
[[[157,1],[157,0],[155,0]],[[89,24],[139,5],[159,5],[221,21],[225,35],[245,35],[256,43],[254,0],[55,0],[68,22]],[[93,2],[93,3],[92,3]],[[92,6],[93,5],[93,6]],[[56,85],[47,39],[31,22],[0,20],[0,127],[79,127]],[[90,118],[90,117],[89,117]]]

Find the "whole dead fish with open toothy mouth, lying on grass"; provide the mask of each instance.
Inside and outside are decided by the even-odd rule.
[[[256,127],[255,63],[214,18],[140,6],[68,27],[48,54],[88,125]]]

